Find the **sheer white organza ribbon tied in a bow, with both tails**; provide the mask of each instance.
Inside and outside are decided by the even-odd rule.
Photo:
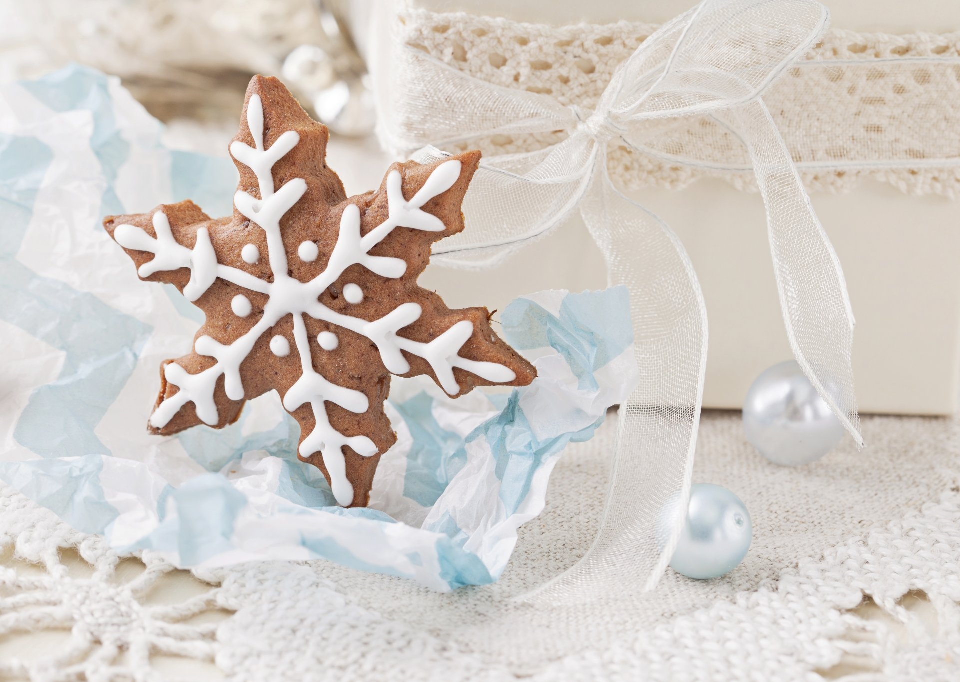
[[[707,363],[707,310],[677,236],[607,174],[610,146],[644,149],[661,129],[658,121],[708,116],[750,153],[791,347],[862,444],[843,272],[760,97],[827,24],[827,9],[813,0],[705,0],[647,38],[592,111],[480,81],[408,46],[393,55],[389,82],[380,76],[383,141],[406,152],[434,145],[415,154],[421,161],[443,157],[438,147],[492,135],[568,132],[538,152],[486,158],[465,203],[468,229],[435,249],[439,261],[490,265],[579,208],[612,283],[630,287],[642,381],[620,409],[602,525],[577,565],[528,598],[563,603],[614,585],[649,589],[683,523]]]

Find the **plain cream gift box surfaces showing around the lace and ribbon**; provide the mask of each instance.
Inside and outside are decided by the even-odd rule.
[[[409,38],[409,30],[406,34],[400,31],[401,38],[393,31],[393,23],[403,12],[414,12],[421,19],[428,18],[428,12],[496,15],[508,24],[561,26],[617,20],[658,24],[694,4],[693,0],[384,3],[381,20],[368,36],[368,44],[382,45],[404,35]],[[958,3],[927,0],[904,5],[886,0],[833,0],[827,4],[833,15],[832,25],[851,31],[943,34],[960,28]],[[456,15],[447,16],[457,20]],[[437,23],[434,33],[444,34],[446,27]],[[450,41],[447,54],[451,59],[474,59],[454,37]],[[434,40],[434,45],[439,44],[442,38]],[[949,45],[954,48],[952,42]],[[390,64],[383,59],[387,52],[372,51],[374,71],[389,72]],[[376,53],[380,59],[376,59]],[[485,55],[484,59],[495,66],[501,58]],[[526,72],[517,75],[519,84],[527,74],[536,80],[537,74],[530,69],[557,67],[531,63],[525,68]],[[483,78],[482,69],[476,71]],[[604,78],[599,72],[596,77]],[[919,77],[916,80],[923,81]],[[811,101],[809,106],[820,105]],[[960,111],[954,123],[960,128]],[[952,143],[944,153],[960,156]],[[960,206],[950,198],[956,188],[952,192],[908,194],[895,183],[865,176],[843,190],[814,188],[811,200],[837,250],[850,289],[857,322],[853,367],[860,410],[956,412],[960,398],[960,268],[956,265],[960,258]],[[739,408],[756,376],[792,355],[780,313],[762,201],[756,193],[740,191],[730,182],[712,177],[701,177],[681,189],[648,185],[633,191],[632,196],[679,234],[703,287],[709,318],[704,406]],[[469,216],[467,223],[469,229]],[[492,269],[433,267],[421,282],[438,289],[451,305],[475,304],[477,292],[483,292],[490,308],[502,309],[524,292],[602,287],[607,275],[603,257],[578,216]]]

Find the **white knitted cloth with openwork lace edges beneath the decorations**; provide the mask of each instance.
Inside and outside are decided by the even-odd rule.
[[[0,637],[72,626],[73,644],[58,660],[0,661],[0,675],[156,679],[148,656],[167,651],[215,657],[228,679],[257,681],[796,680],[821,679],[842,661],[866,679],[960,677],[955,420],[867,417],[868,450],[845,443],[790,469],[756,454],[739,414],[706,414],[694,479],[732,487],[750,508],[754,545],[743,564],[708,581],[668,572],[656,592],[609,595],[580,607],[575,628],[559,628],[569,614],[558,620],[510,598],[587,550],[613,426],[564,455],[547,507],[520,530],[503,578],[452,594],[324,561],[268,562],[200,573],[218,586],[185,603],[144,606],[170,566],[147,553],[146,572],[118,583],[118,556],[101,538],[8,488],[0,550],[12,547],[48,575],[0,571]],[[65,576],[61,547],[78,548],[93,575]],[[936,630],[911,610],[917,593],[936,609]],[[852,612],[868,598],[892,620]],[[218,625],[180,623],[213,608],[235,613]]]

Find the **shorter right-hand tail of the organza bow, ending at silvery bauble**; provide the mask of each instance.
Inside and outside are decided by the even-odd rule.
[[[786,143],[759,98],[729,119],[753,159],[786,333],[797,362],[863,447],[853,390],[854,319],[840,259],[813,210]]]

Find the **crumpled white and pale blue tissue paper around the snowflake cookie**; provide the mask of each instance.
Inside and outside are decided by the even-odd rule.
[[[324,557],[450,590],[503,572],[564,446],[636,384],[625,289],[544,292],[502,314],[539,378],[450,400],[394,379],[398,441],[371,506],[336,506],[276,393],[223,431],[149,435],[160,361],[199,309],[135,278],[104,215],[192,199],[227,215],[228,158],[171,151],[119,81],[70,66],[0,87],[0,479],[112,546],[183,567]],[[469,225],[469,216],[467,217]]]

